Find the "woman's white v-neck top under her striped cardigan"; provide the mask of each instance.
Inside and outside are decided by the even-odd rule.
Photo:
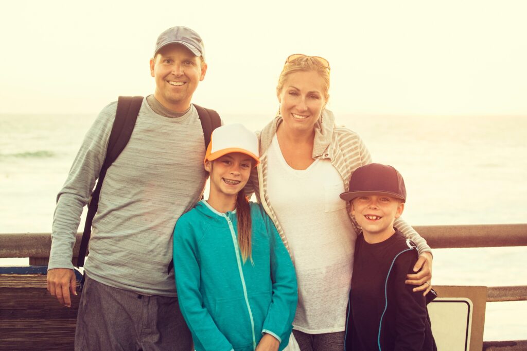
[[[292,169],[272,139],[268,153],[267,191],[289,243],[298,279],[294,329],[309,334],[345,329],[352,278],[355,231],[344,183],[329,159],[305,170]]]

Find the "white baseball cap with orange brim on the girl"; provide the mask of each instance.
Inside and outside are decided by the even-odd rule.
[[[260,163],[258,158],[258,138],[254,132],[251,132],[242,124],[222,125],[214,129],[203,162],[207,160],[214,161],[232,152],[249,155],[255,159],[255,166]]]

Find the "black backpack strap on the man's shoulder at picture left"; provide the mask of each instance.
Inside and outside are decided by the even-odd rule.
[[[99,179],[97,179],[97,184],[92,191],[91,199],[88,203],[88,213],[86,215],[86,222],[84,223],[84,232],[82,233],[81,247],[77,259],[78,267],[84,266],[86,249],[92,233],[92,221],[97,212],[97,208],[99,207],[99,194],[101,193],[106,171],[119,157],[130,140],[142,103],[142,96],[119,96],[115,121],[112,125],[108,148],[106,148],[106,157],[101,172],[99,173]]]

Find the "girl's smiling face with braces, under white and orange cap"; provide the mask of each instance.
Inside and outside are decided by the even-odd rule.
[[[214,161],[205,161],[205,170],[210,173],[209,199],[236,199],[245,187],[251,174],[253,159],[249,155],[233,152]]]

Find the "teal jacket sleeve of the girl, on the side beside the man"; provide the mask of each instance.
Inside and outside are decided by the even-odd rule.
[[[192,225],[190,218],[184,217],[181,217],[176,224],[173,237],[175,285],[181,313],[187,321],[194,340],[194,347],[197,350],[230,351],[232,345],[218,329],[209,311],[203,305],[197,255],[197,228]],[[199,223],[199,221],[195,222]]]

